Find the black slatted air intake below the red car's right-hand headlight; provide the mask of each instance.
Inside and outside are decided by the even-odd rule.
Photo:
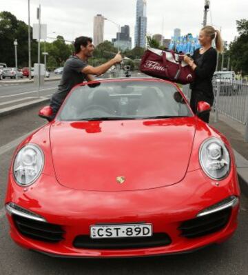
[[[231,216],[231,207],[215,213],[207,214],[184,221],[178,229],[181,236],[186,238],[197,238],[222,230],[228,223]]]

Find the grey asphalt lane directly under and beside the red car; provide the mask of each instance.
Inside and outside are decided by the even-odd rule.
[[[241,198],[239,226],[236,234],[222,245],[209,247],[192,254],[154,258],[63,259],[50,258],[15,245],[8,235],[8,223],[3,212],[8,168],[14,151],[14,146],[11,142],[45,124],[45,121],[37,116],[39,108],[41,106],[0,117],[1,275],[248,274],[248,199],[245,196]],[[6,144],[10,145],[10,147],[6,148]]]

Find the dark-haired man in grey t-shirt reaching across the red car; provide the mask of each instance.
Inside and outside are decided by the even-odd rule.
[[[122,57],[120,52],[110,61],[98,67],[92,67],[87,64],[87,59],[92,57],[94,45],[90,37],[77,37],[74,42],[75,55],[65,61],[59,89],[52,95],[50,107],[52,108],[52,116],[54,117],[61,107],[68,92],[72,90],[74,85],[83,81],[93,81],[92,75],[104,74],[112,65],[120,63]]]

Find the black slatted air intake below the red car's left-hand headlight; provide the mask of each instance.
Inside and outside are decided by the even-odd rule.
[[[62,230],[60,225],[44,223],[42,221],[33,221],[30,218],[24,218],[14,214],[12,217],[17,230],[23,236],[49,243],[57,243],[63,240],[63,234],[65,232]]]

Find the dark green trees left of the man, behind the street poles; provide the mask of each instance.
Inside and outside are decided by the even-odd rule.
[[[31,28],[32,37],[32,28]],[[14,40],[17,39],[17,59],[18,67],[28,66],[28,25],[10,12],[0,12],[0,62],[7,63],[9,67],[14,67]],[[48,52],[48,68],[56,68],[70,57],[74,47],[65,43],[63,37],[58,36],[52,43],[41,42],[41,62],[43,62],[42,52]],[[38,61],[38,43],[31,40],[31,61],[32,65]]]

